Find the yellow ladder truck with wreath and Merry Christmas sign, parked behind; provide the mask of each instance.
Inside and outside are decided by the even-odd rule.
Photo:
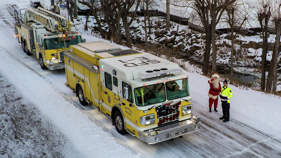
[[[41,7],[15,10],[14,29],[23,51],[37,57],[43,70],[64,68],[64,52],[83,41],[74,23]]]

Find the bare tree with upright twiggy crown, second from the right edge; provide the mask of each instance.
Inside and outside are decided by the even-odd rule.
[[[268,52],[268,22],[271,16],[270,11],[271,0],[258,0],[257,2],[257,17],[259,20],[259,24],[261,27],[262,35],[263,35],[263,52],[262,52],[262,72],[261,72],[261,83],[260,90],[265,90],[265,62],[266,55]]]

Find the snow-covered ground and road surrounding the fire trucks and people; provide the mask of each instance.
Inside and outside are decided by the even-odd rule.
[[[224,123],[218,119],[220,103],[219,112],[208,112],[208,78],[195,73],[198,69],[188,62],[184,64],[190,67],[193,113],[202,118],[201,130],[155,145],[119,135],[108,116],[79,106],[64,85],[64,70],[44,71],[36,57],[22,51],[12,36],[10,6],[22,8],[29,1],[2,2],[7,5],[0,5],[0,36],[5,37],[0,38],[0,157],[281,156],[281,98],[229,85],[234,97],[230,121]],[[82,37],[87,42],[101,40]]]

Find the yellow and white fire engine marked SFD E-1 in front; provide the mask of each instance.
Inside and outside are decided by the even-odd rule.
[[[65,85],[81,105],[111,116],[121,135],[154,144],[200,130],[188,76],[177,64],[102,41],[71,45],[64,54]]]

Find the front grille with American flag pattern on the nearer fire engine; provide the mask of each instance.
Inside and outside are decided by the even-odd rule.
[[[180,101],[169,104],[156,106],[158,126],[162,126],[166,123],[172,123],[179,120],[180,116]]]

